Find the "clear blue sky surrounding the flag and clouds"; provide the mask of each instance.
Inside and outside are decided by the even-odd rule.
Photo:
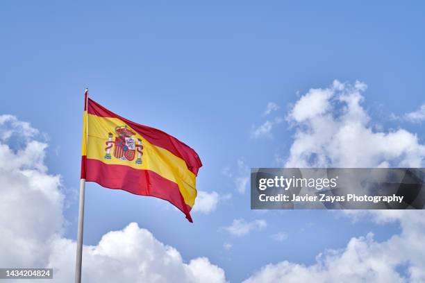
[[[424,10],[421,1],[1,1],[0,114],[45,134],[49,173],[63,178],[69,239],[76,237],[85,87],[113,112],[190,145],[203,162],[198,189],[230,199],[209,214],[195,212],[191,224],[166,202],[90,183],[84,243],[134,221],[183,259],[208,257],[240,282],[269,263],[313,264],[319,252],[367,232],[377,241],[399,232],[397,223],[353,223],[326,211],[253,212],[249,192],[240,194],[234,180],[244,175],[238,160],[270,167],[276,155],[289,156],[288,121],[272,137],[253,137],[253,128],[285,118],[301,95],[335,79],[365,82],[370,117],[423,144],[420,124],[391,114],[425,102]],[[279,109],[265,117],[269,102]],[[237,237],[225,228],[238,218],[267,227]],[[288,239],[274,241],[278,232]]]

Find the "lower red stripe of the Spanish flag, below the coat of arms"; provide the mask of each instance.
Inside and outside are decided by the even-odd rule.
[[[85,180],[97,182],[109,189],[122,189],[140,196],[154,196],[169,201],[192,221],[190,207],[186,205],[178,185],[150,170],[130,166],[105,164],[99,160],[87,160]]]

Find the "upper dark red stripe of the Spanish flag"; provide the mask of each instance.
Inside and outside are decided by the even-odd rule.
[[[139,123],[135,123],[120,117],[90,98],[88,101],[88,114],[93,114],[99,117],[117,118],[124,121],[124,123],[127,123],[128,126],[131,126],[133,130],[138,132],[139,135],[142,135],[142,137],[147,139],[151,144],[165,148],[167,151],[183,159],[188,166],[188,169],[195,175],[198,175],[198,170],[202,166],[202,162],[199,159],[198,154],[192,148],[190,148],[190,146],[184,144],[175,137],[168,135],[162,130],[143,126]]]

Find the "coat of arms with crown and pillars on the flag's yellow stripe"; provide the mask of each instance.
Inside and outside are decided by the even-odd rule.
[[[135,143],[135,133],[128,129],[127,126],[119,126],[115,128],[115,141],[113,141],[113,133],[108,134],[108,141],[106,141],[106,155],[105,159],[111,159],[110,151],[114,147],[114,157],[119,160],[133,161],[136,155],[138,158],[135,161],[137,164],[142,164],[142,139],[138,139],[138,144]]]

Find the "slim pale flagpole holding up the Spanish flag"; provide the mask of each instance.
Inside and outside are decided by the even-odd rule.
[[[88,89],[85,89],[85,148],[87,152],[88,141]],[[84,194],[85,179],[80,180],[80,201],[78,205],[78,233],[75,263],[75,283],[81,283],[81,262],[83,259],[83,224],[84,224]]]

